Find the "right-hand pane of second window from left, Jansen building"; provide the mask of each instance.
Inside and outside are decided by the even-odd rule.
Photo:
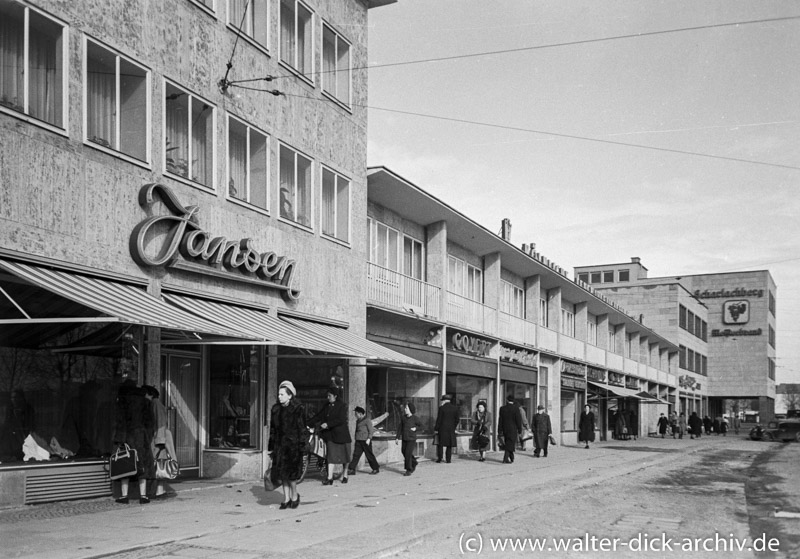
[[[147,73],[126,60],[120,60],[119,69],[119,150],[131,157],[146,161]]]

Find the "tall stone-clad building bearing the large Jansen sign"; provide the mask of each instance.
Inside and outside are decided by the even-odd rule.
[[[0,2],[0,504],[108,494],[124,379],[160,389],[182,475],[258,478],[279,381],[313,411],[425,368],[364,336],[392,1]]]

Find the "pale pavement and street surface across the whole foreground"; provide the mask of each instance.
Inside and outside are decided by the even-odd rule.
[[[456,557],[479,542],[483,555],[579,557],[610,553],[602,538],[619,540],[615,557],[797,557],[798,457],[800,445],[744,437],[609,441],[556,447],[547,459],[522,453],[511,465],[499,454],[423,462],[409,478],[388,467],[347,485],[310,479],[288,511],[260,484],[185,482],[146,506],[101,499],[0,511],[0,536],[9,558]],[[730,552],[764,534],[778,552]],[[504,537],[530,538],[528,548],[512,551],[509,540],[500,551]],[[548,538],[540,551],[534,538]],[[555,551],[564,541],[553,538],[580,540]],[[660,550],[665,538],[673,553]],[[684,538],[701,549],[681,550]],[[716,553],[702,550],[708,538]]]

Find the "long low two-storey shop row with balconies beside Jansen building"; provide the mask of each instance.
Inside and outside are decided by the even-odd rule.
[[[382,438],[407,399],[426,424],[425,451],[442,393],[461,410],[464,449],[477,402],[496,414],[508,394],[528,418],[544,405],[563,443],[577,442],[586,402],[601,438],[618,410],[640,433],[655,430],[678,393],[673,341],[389,169],[370,168],[368,188],[367,336],[435,367],[368,367],[372,411],[390,414],[375,439],[384,459],[396,458]]]

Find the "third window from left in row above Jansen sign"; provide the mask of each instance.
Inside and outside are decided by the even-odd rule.
[[[169,82],[164,91],[166,172],[214,188],[214,106]]]

